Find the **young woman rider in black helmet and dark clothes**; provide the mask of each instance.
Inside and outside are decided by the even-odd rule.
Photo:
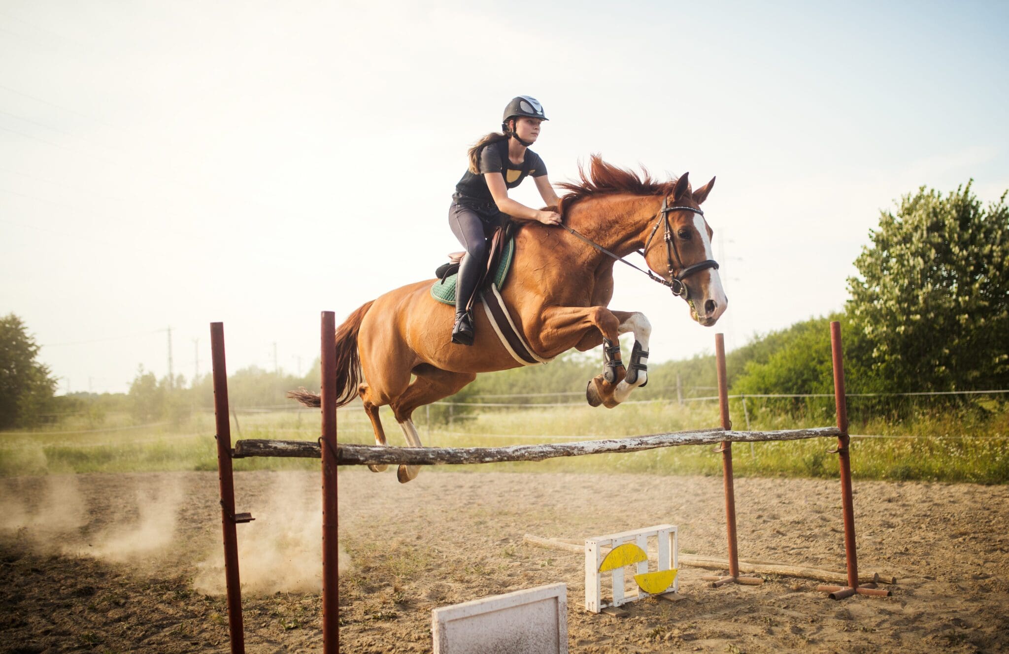
[[[535,220],[545,225],[559,225],[555,211],[540,211],[508,197],[508,190],[532,177],[548,207],[559,199],[547,179],[547,167],[540,155],[529,149],[540,134],[540,124],[547,120],[543,106],[529,96],[519,96],[504,107],[501,132],[490,132],[469,148],[469,169],[455,185],[448,222],[452,233],[466,248],[456,279],[455,325],[452,342],[473,344],[473,319],[466,311],[484,265],[487,237],[500,224],[500,214]]]

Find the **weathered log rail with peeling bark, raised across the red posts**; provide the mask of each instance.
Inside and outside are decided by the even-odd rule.
[[[501,461],[541,461],[558,456],[610,454],[673,447],[705,445],[732,441],[755,443],[762,441],[800,440],[839,436],[836,427],[785,429],[768,432],[722,431],[701,429],[688,432],[651,434],[631,438],[609,438],[574,443],[544,443],[540,445],[510,445],[507,447],[388,447],[341,443],[337,446],[340,465],[439,465],[445,463],[496,463]],[[247,456],[298,456],[319,458],[319,443],[313,441],[240,440],[235,442],[235,458]]]

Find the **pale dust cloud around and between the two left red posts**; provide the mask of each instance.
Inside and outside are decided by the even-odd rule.
[[[238,532],[242,590],[319,592],[322,588],[322,507],[318,480],[302,473],[277,472],[258,501],[246,503],[255,521]],[[349,570],[340,549],[338,569]],[[219,545],[200,563],[193,587],[223,593],[224,558]]]

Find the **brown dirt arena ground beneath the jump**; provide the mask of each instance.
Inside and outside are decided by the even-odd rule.
[[[321,645],[319,477],[236,475],[249,652]],[[836,481],[738,479],[741,558],[839,569]],[[0,652],[227,651],[212,472],[0,479]],[[709,589],[631,616],[586,614],[583,559],[524,545],[670,522],[724,556],[721,479],[422,471],[340,473],[346,652],[430,651],[431,609],[545,583],[568,588],[572,652],[1009,650],[1009,487],[856,482],[861,566],[894,596],[833,602],[817,582]]]

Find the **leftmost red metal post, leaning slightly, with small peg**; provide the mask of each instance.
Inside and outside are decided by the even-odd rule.
[[[221,489],[224,532],[224,579],[228,593],[228,632],[232,654],[244,654],[242,591],[238,580],[238,536],[235,533],[235,484],[231,472],[231,425],[228,423],[228,370],[224,361],[224,324],[210,323],[214,367],[214,418],[217,423],[217,478]]]

